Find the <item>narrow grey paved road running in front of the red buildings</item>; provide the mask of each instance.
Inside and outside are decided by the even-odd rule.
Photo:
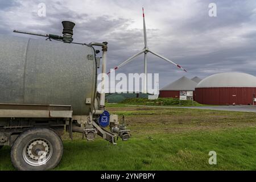
[[[142,105],[127,105],[127,106],[142,106]],[[256,105],[242,105],[242,106],[190,106],[190,107],[172,107],[172,106],[146,106],[143,107],[162,107],[162,108],[187,108],[187,109],[210,109],[210,110],[226,110],[226,111],[240,111],[256,113]]]

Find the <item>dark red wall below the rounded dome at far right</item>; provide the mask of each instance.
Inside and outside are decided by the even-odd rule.
[[[196,88],[196,101],[200,104],[238,105],[253,104],[253,94],[256,88],[230,87],[230,88]],[[254,104],[256,104],[254,102]]]

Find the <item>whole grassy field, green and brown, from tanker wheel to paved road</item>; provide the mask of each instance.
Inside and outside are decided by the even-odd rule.
[[[256,113],[109,107],[126,115],[132,138],[117,146],[63,136],[64,154],[55,170],[255,170]],[[217,165],[209,165],[209,151]],[[0,151],[0,170],[13,170],[10,147]]]

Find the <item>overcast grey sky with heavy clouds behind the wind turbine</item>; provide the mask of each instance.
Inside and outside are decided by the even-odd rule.
[[[39,3],[45,3],[46,16],[38,16]],[[216,3],[216,17],[208,14],[209,3]],[[182,76],[256,75],[255,0],[0,0],[0,34],[18,29],[61,35],[61,21],[71,20],[75,42],[109,42],[109,70],[143,48],[142,7],[148,47],[188,71],[148,54],[148,73],[159,73],[160,88]],[[142,73],[143,55],[119,72]]]

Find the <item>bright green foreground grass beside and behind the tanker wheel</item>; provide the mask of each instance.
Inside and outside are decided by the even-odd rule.
[[[218,132],[152,135],[119,141],[64,141],[55,170],[255,170],[255,127]],[[217,152],[209,165],[208,152]],[[0,170],[13,170],[10,147],[1,151]]]

